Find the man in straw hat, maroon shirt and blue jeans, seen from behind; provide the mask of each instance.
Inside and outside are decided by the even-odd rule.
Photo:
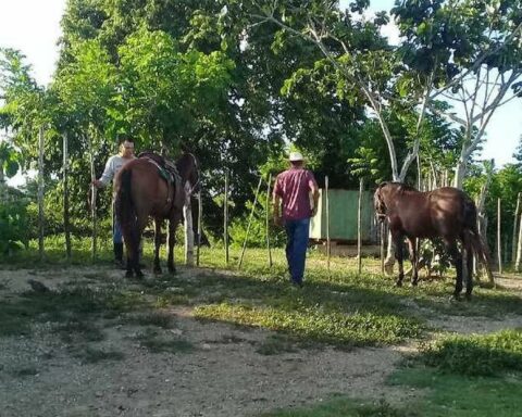
[[[275,179],[274,223],[284,226],[286,230],[286,260],[290,281],[294,286],[302,287],[310,217],[318,212],[319,188],[313,174],[304,169],[300,152],[291,152],[289,162],[290,168]],[[310,193],[313,206],[310,206]]]

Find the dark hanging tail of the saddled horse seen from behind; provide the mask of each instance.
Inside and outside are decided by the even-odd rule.
[[[122,228],[125,245],[127,247],[127,256],[134,257],[137,251],[136,248],[136,208],[133,202],[130,179],[133,172],[130,169],[122,168],[120,175],[120,187],[116,190],[116,198],[114,201],[114,210],[116,219]]]

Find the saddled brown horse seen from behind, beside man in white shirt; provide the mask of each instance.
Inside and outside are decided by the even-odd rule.
[[[174,243],[177,225],[183,218],[186,201],[185,187],[189,193],[199,187],[199,172],[196,157],[191,153],[183,154],[175,166],[178,175],[167,182],[161,175],[161,164],[146,155],[124,165],[114,178],[115,212],[121,224],[123,239],[127,250],[126,276],[133,273],[142,277],[139,266],[139,245],[145,226],[151,216],[154,219],[154,273],[160,274],[161,226],[169,219],[169,256],[167,268],[175,273]]]

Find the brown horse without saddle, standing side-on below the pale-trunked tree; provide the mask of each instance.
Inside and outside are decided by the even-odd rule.
[[[488,269],[488,254],[476,226],[476,207],[462,190],[451,187],[420,192],[401,182],[383,182],[374,194],[375,213],[381,220],[387,219],[399,263],[397,286],[402,285],[402,242],[408,240],[413,267],[411,282],[419,279],[417,239],[440,237],[457,269],[455,298],[462,291],[462,253],[457,241],[468,255],[465,295],[471,298],[473,279],[473,253]]]

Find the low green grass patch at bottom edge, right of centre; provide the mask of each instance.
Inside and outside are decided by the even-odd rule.
[[[409,409],[398,408],[385,400],[371,403],[368,400],[338,397],[310,407],[279,409],[261,414],[262,417],[420,417]]]

